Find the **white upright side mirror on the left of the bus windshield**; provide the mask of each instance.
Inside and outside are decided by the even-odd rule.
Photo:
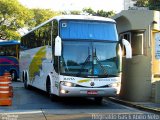
[[[61,56],[61,51],[62,51],[62,40],[59,36],[57,36],[55,38],[55,49],[54,49],[55,56]]]

